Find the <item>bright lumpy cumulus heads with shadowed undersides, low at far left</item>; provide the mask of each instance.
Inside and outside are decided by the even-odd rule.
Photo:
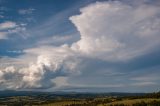
[[[30,64],[26,68],[16,69],[14,66],[9,66],[0,70],[1,89],[43,89],[54,86],[50,79],[58,76],[56,70],[59,67],[56,64],[52,65],[47,59],[39,56],[37,63]]]

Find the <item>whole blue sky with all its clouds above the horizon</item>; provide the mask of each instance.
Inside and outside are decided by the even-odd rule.
[[[0,90],[160,90],[159,0],[0,0]]]

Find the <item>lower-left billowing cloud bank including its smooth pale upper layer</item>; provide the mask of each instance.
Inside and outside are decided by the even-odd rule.
[[[54,51],[54,53],[50,51]],[[68,51],[66,46],[58,48],[40,47],[24,52],[26,55],[19,57],[16,62],[18,64],[15,64],[16,67],[12,66],[12,61],[10,61],[9,65],[4,64],[5,68],[0,69],[1,88],[50,88],[55,85],[60,86],[61,84],[58,82],[64,81],[62,77],[78,74],[75,70],[78,61],[75,58],[70,58],[72,53]],[[28,56],[30,59],[27,60]],[[35,59],[35,57],[37,58]],[[23,61],[25,62],[23,63]]]

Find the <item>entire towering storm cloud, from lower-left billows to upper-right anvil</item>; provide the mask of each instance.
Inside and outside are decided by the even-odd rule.
[[[147,12],[146,12],[147,11]],[[10,66],[0,70],[4,88],[49,88],[54,79],[79,73],[81,57],[104,61],[126,61],[144,55],[160,45],[160,7],[119,1],[97,2],[70,17],[80,32],[71,46],[38,47],[25,50],[21,59],[31,59],[26,68]],[[12,77],[9,77],[12,76]]]

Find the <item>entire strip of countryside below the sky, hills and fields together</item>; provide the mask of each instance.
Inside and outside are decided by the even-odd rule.
[[[8,95],[4,92],[0,92],[0,106],[160,106],[160,92],[51,93],[7,91]]]

